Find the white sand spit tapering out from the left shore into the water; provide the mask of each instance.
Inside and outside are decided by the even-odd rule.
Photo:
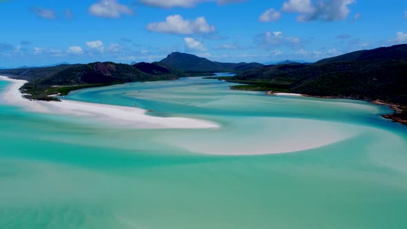
[[[55,115],[75,115],[90,118],[115,126],[126,128],[175,128],[175,129],[199,129],[219,128],[216,123],[199,119],[180,117],[152,117],[146,115],[146,110],[124,106],[112,106],[98,103],[85,103],[80,101],[30,101],[22,97],[19,88],[27,83],[24,80],[10,79],[0,76],[1,81],[9,81],[10,86],[1,92],[0,102],[13,106],[20,106],[30,112],[41,112]]]

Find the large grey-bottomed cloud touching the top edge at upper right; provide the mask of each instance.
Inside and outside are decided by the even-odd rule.
[[[298,13],[297,21],[339,21],[350,13],[349,6],[355,0],[288,0],[283,3],[282,10]]]

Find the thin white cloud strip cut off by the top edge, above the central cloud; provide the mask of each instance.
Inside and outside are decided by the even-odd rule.
[[[159,7],[159,8],[192,8],[197,6],[199,3],[204,3],[213,0],[141,0],[141,3],[147,6]],[[239,3],[246,0],[217,0],[219,5],[226,5],[228,3]]]

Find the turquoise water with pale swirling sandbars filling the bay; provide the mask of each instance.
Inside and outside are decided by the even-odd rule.
[[[231,85],[186,78],[67,98],[221,126],[208,130],[1,104],[0,228],[407,228],[407,129],[381,119],[388,108]]]

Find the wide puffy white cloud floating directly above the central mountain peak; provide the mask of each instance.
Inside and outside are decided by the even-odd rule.
[[[197,17],[194,21],[184,20],[179,14],[170,15],[166,21],[149,23],[147,30],[174,34],[194,34],[215,32],[215,26],[210,26],[205,17]]]

